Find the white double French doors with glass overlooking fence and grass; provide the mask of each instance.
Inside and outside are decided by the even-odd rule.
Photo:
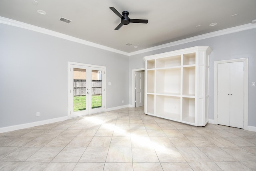
[[[69,64],[70,118],[105,108],[105,67]]]

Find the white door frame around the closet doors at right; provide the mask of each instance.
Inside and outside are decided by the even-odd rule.
[[[222,61],[214,61],[214,123],[218,124],[217,118],[217,109],[218,109],[218,74],[217,67],[218,64],[229,63],[229,62],[244,62],[244,129],[248,130],[248,58],[241,59],[232,59],[232,60],[222,60]]]

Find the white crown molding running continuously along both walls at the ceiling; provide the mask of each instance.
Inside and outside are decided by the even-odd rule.
[[[256,24],[249,23],[249,24],[244,24],[244,25],[241,25],[241,26],[236,26],[236,27],[232,27],[232,28],[218,30],[218,31],[215,31],[215,32],[210,32],[210,33],[202,34],[202,35],[199,35],[199,36],[194,36],[194,37],[191,37],[191,38],[186,38],[186,39],[178,40],[178,41],[175,41],[175,42],[170,42],[170,43],[167,43],[167,44],[154,46],[152,48],[146,48],[146,49],[143,49],[143,50],[138,50],[138,51],[135,51],[135,52],[128,53],[128,52],[124,52],[124,51],[117,50],[117,49],[114,49],[114,48],[110,48],[108,46],[103,46],[103,45],[100,45],[100,44],[96,44],[96,43],[93,43],[93,42],[89,42],[89,41],[86,41],[86,40],[82,40],[82,39],[79,39],[79,38],[68,36],[66,34],[62,34],[62,33],[59,33],[59,32],[52,31],[52,30],[48,30],[48,29],[45,29],[45,28],[34,26],[34,25],[31,25],[31,24],[19,22],[19,21],[12,20],[12,19],[9,19],[9,18],[4,18],[4,17],[1,17],[1,16],[0,16],[0,23],[8,24],[8,25],[11,25],[11,26],[16,26],[16,27],[20,27],[20,28],[24,28],[24,29],[28,29],[28,30],[32,30],[32,31],[35,31],[35,32],[40,32],[40,33],[43,33],[43,34],[48,34],[48,35],[55,36],[55,37],[58,37],[58,38],[70,40],[72,42],[77,42],[77,43],[80,43],[80,44],[84,44],[84,45],[87,45],[87,46],[92,46],[92,47],[95,47],[95,48],[99,48],[99,49],[102,49],[102,50],[107,50],[107,51],[110,51],[110,52],[114,52],[114,53],[118,53],[118,54],[122,54],[122,55],[126,55],[126,56],[133,56],[133,55],[142,54],[142,53],[145,53],[145,52],[150,52],[150,51],[153,51],[153,50],[159,50],[159,49],[162,49],[162,48],[168,48],[168,47],[171,47],[171,46],[176,46],[176,45],[180,45],[180,44],[194,42],[194,41],[197,41],[197,40],[212,38],[212,37],[216,37],[216,36],[221,36],[221,35],[225,35],[225,34],[241,32],[241,31],[244,31],[244,30],[250,30],[250,29],[256,28]]]

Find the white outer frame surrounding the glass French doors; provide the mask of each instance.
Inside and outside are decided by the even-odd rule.
[[[77,66],[88,66],[92,68],[103,68],[105,71],[105,74],[102,74],[102,80],[104,79],[104,84],[102,84],[102,87],[105,89],[105,91],[102,91],[102,94],[104,93],[104,111],[106,110],[106,66],[97,66],[97,65],[91,65],[91,64],[83,64],[78,62],[68,62],[68,119],[70,119],[70,65],[77,65]],[[89,113],[89,115],[92,113]]]

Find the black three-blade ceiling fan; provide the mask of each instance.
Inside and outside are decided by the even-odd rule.
[[[128,17],[129,12],[128,11],[123,11],[122,14],[120,14],[114,7],[109,7],[110,10],[112,10],[118,17],[121,18],[121,23],[115,28],[115,30],[118,30],[120,27],[123,25],[130,24],[132,23],[148,23],[148,20],[141,20],[141,19],[131,19]]]

